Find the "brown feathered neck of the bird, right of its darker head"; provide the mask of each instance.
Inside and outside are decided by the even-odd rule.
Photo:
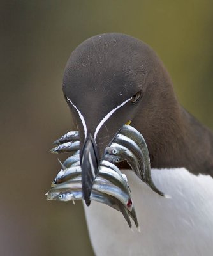
[[[156,77],[138,113],[142,122],[132,123],[147,142],[151,167],[185,167],[213,177],[213,133],[180,106],[165,69]]]

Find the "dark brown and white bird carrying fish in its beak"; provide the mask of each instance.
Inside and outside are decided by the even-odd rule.
[[[93,36],[71,53],[62,81],[80,137],[84,211],[96,255],[212,255],[213,134],[178,102],[168,71],[141,40]],[[154,193],[121,166],[141,233],[120,214],[90,201],[105,148],[126,122],[145,138]],[[89,207],[88,207],[89,206]]]

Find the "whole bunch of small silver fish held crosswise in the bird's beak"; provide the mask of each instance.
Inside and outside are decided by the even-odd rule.
[[[54,145],[58,146],[51,152],[57,154],[69,152],[72,156],[61,164],[62,170],[55,177],[52,183],[54,188],[47,193],[47,200],[73,200],[73,202],[84,200],[79,144],[78,131],[68,132],[54,142]],[[142,134],[129,125],[123,125],[112,143],[105,149],[98,175],[92,186],[90,200],[96,200],[122,212],[129,227],[131,227],[130,216],[139,230],[128,180],[115,166],[121,161],[126,161],[143,182],[159,195],[163,195],[152,181],[149,151]]]

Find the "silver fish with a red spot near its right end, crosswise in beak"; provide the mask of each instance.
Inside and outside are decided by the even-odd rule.
[[[68,180],[62,184],[58,184],[52,188],[49,193],[52,192],[64,192],[64,191],[76,191],[82,189],[81,180]],[[100,177],[96,177],[92,189],[103,194],[114,196],[117,198],[129,211],[133,209],[133,201],[128,193],[122,191],[117,186],[113,185],[111,182],[107,182]]]

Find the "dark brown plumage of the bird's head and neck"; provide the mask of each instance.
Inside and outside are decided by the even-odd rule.
[[[122,124],[132,120],[147,141],[151,167],[185,167],[196,175],[213,176],[212,132],[180,106],[162,61],[142,41],[119,33],[89,38],[71,54],[63,90],[82,109],[91,134],[110,110],[142,92],[136,104],[128,102],[101,128],[99,157]],[[78,114],[72,111],[83,134]],[[84,136],[80,138],[82,147]]]

